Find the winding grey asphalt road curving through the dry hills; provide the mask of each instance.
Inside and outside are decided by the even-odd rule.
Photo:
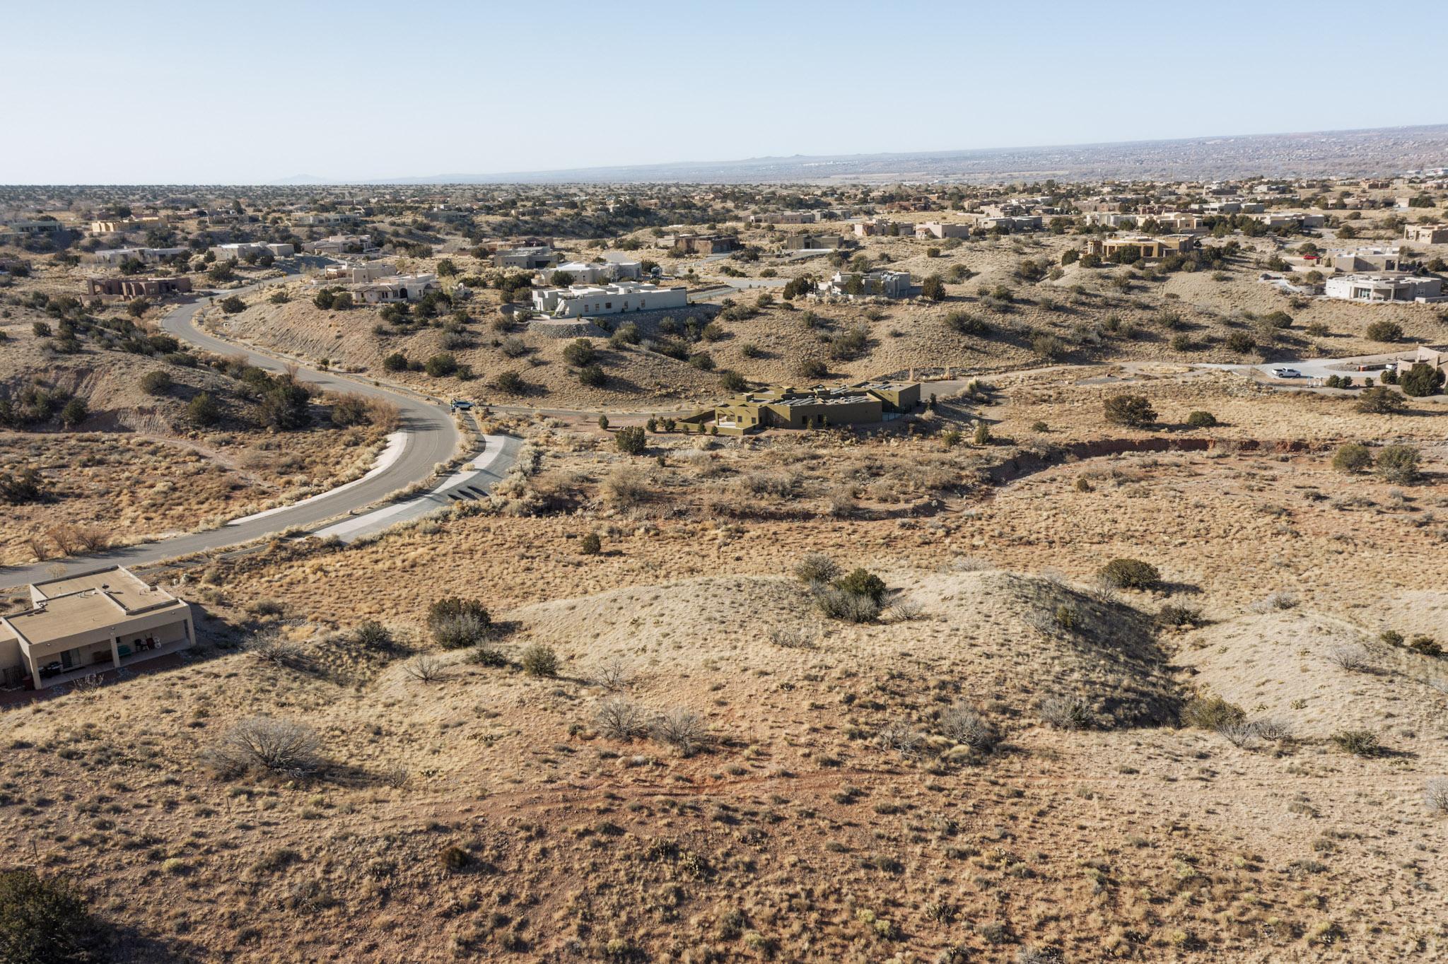
[[[229,291],[227,294],[256,291],[265,284],[258,282],[246,288],[239,288],[235,292]],[[246,360],[258,368],[271,372],[284,371],[287,362],[282,359],[223,342],[201,331],[195,326],[194,317],[204,304],[204,300],[198,298],[178,305],[165,316],[161,327],[167,333],[198,349],[226,356],[245,355]],[[345,375],[332,372],[300,368],[297,376],[300,381],[320,389],[359,392],[394,402],[401,410],[401,430],[405,433],[401,454],[384,470],[363,482],[236,525],[222,525],[220,528],[203,533],[188,533],[185,536],[111,549],[90,556],[72,556],[64,560],[52,559],[33,566],[0,567],[0,586],[20,586],[48,579],[55,566],[64,566],[67,572],[84,572],[85,569],[96,569],[98,566],[139,566],[191,553],[226,549],[290,528],[316,528],[320,523],[369,507],[391,492],[430,478],[437,463],[447,462],[458,447],[458,426],[442,404],[400,391],[378,388],[369,382],[353,381]],[[498,462],[510,459],[511,454],[511,452],[505,450]],[[495,463],[498,473],[504,468],[504,465]]]

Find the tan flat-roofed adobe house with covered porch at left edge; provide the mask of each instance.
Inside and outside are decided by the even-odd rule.
[[[191,606],[123,566],[30,586],[0,615],[0,685],[45,689],[195,646]]]

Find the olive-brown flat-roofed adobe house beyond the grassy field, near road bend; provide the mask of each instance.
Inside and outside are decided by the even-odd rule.
[[[859,382],[834,388],[775,386],[701,408],[678,424],[683,431],[741,436],[763,428],[869,426],[919,405],[919,382]]]

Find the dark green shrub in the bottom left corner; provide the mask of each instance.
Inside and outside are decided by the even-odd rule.
[[[28,867],[0,870],[0,961],[98,961],[98,936],[85,899],[68,879],[41,877]]]

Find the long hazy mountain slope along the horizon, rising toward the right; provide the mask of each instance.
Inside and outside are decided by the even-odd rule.
[[[1389,175],[1448,165],[1448,124],[914,153],[792,155],[675,164],[439,174],[352,184],[770,184],[830,181],[1189,181]],[[326,184],[288,178],[278,184]],[[340,184],[340,181],[332,181]]]

